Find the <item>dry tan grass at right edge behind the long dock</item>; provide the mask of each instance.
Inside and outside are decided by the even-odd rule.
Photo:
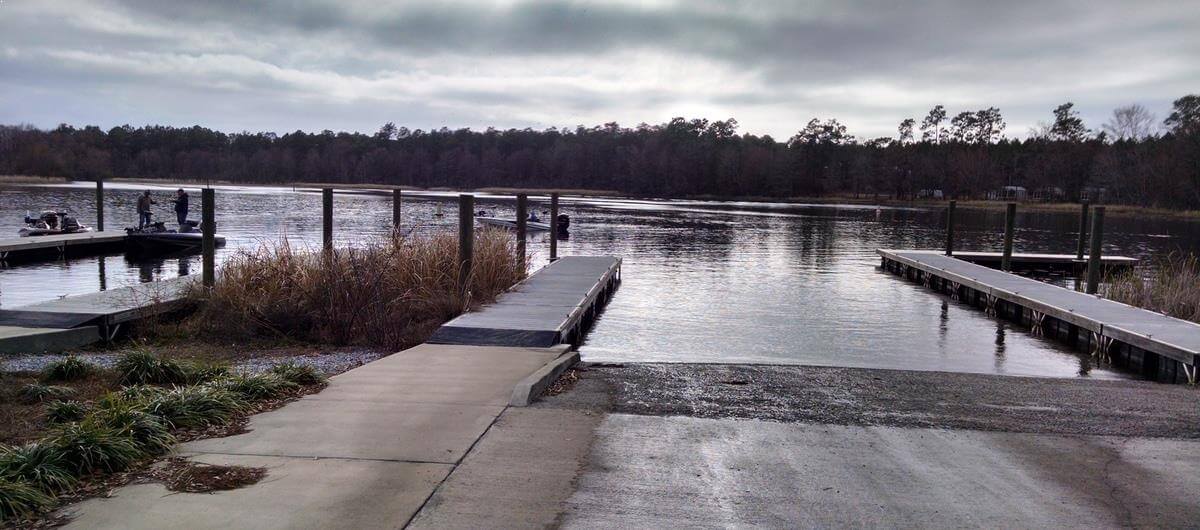
[[[1194,254],[1171,254],[1148,271],[1111,276],[1103,287],[1106,299],[1200,323],[1200,260]]]

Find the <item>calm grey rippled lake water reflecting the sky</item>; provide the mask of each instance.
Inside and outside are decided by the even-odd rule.
[[[146,186],[109,185],[106,225],[136,221]],[[0,234],[16,234],[25,210],[65,207],[90,223],[94,188],[0,187]],[[168,216],[169,187],[155,187]],[[193,191],[193,217],[199,193]],[[335,198],[335,237],[383,234],[390,195]],[[512,215],[505,198],[479,195],[476,209]],[[445,215],[437,217],[438,207]],[[624,283],[587,343],[589,361],[805,363],[1050,377],[1121,377],[1024,329],[876,270],[878,247],[936,248],[941,212],[874,206],[564,199],[572,217],[563,255],[623,257]],[[452,194],[409,197],[404,227],[427,233],[456,223]],[[961,248],[998,249],[1003,213],[960,212]],[[220,187],[218,231],[236,248],[287,237],[314,246],[320,195],[292,188]],[[1018,251],[1073,252],[1074,215],[1020,215]],[[1153,258],[1200,251],[1200,223],[1109,218],[1105,252]],[[530,239],[545,263],[545,234]],[[124,255],[19,265],[0,271],[0,307],[132,282],[198,273],[197,257],[128,261]],[[1072,285],[1073,278],[1045,278]]]

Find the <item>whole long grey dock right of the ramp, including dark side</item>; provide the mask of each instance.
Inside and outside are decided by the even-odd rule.
[[[1030,325],[1034,335],[1086,345],[1162,381],[1196,381],[1200,325],[1099,296],[989,269],[928,251],[877,251],[884,270],[902,275],[989,314]]]

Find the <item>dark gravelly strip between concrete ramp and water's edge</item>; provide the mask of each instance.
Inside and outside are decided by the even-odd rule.
[[[574,373],[572,373],[574,372]],[[841,426],[1200,438],[1200,391],[1139,380],[769,365],[581,363],[536,406]],[[570,383],[570,381],[569,381]]]

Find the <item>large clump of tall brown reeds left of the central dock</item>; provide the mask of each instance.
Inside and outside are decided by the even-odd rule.
[[[461,294],[452,234],[389,236],[329,253],[286,241],[242,251],[214,288],[197,289],[193,325],[217,337],[278,337],[403,349],[472,305],[524,277],[512,234],[476,231],[473,273]]]

